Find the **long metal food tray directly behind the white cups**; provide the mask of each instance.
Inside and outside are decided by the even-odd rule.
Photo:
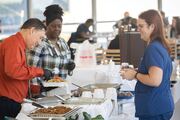
[[[93,92],[94,89],[107,89],[107,88],[116,88],[120,90],[121,84],[113,84],[113,83],[97,83],[97,84],[89,84],[82,88],[79,88],[81,91],[91,91]]]

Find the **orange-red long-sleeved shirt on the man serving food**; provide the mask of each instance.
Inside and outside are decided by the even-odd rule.
[[[28,93],[28,80],[42,76],[43,69],[26,64],[26,45],[21,33],[0,45],[0,96],[21,103]]]

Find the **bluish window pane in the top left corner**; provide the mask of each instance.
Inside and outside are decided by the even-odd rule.
[[[17,32],[27,19],[26,0],[0,1],[0,39]]]

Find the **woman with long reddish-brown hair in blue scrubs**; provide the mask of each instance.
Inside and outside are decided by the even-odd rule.
[[[174,101],[170,90],[172,61],[161,15],[156,10],[138,18],[141,39],[147,42],[138,70],[123,69],[123,79],[136,79],[135,116],[139,120],[170,120]]]

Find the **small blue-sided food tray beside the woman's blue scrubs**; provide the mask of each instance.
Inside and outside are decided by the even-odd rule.
[[[131,99],[134,97],[134,91],[121,91],[117,94],[117,99]]]

